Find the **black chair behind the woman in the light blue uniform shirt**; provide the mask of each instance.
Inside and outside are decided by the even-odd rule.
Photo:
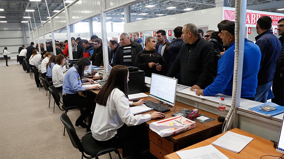
[[[57,89],[54,87],[54,86],[49,86],[48,87],[49,89],[49,92],[52,94],[53,98],[54,98],[54,104],[53,104],[53,113],[54,113],[54,108],[55,108],[55,103],[56,105],[58,106],[58,108],[61,110],[61,111],[65,111],[65,113],[67,114],[67,112],[71,109],[79,109],[80,110],[80,113],[83,114],[83,110],[82,108],[80,108],[79,106],[71,106],[71,107],[68,107],[66,105],[64,105],[61,101],[60,101],[60,95],[59,95],[59,92],[57,92]],[[60,103],[62,104],[62,108],[60,108]],[[83,116],[84,117],[84,116]],[[64,132],[63,132],[63,136],[65,136],[65,127],[64,127]]]

